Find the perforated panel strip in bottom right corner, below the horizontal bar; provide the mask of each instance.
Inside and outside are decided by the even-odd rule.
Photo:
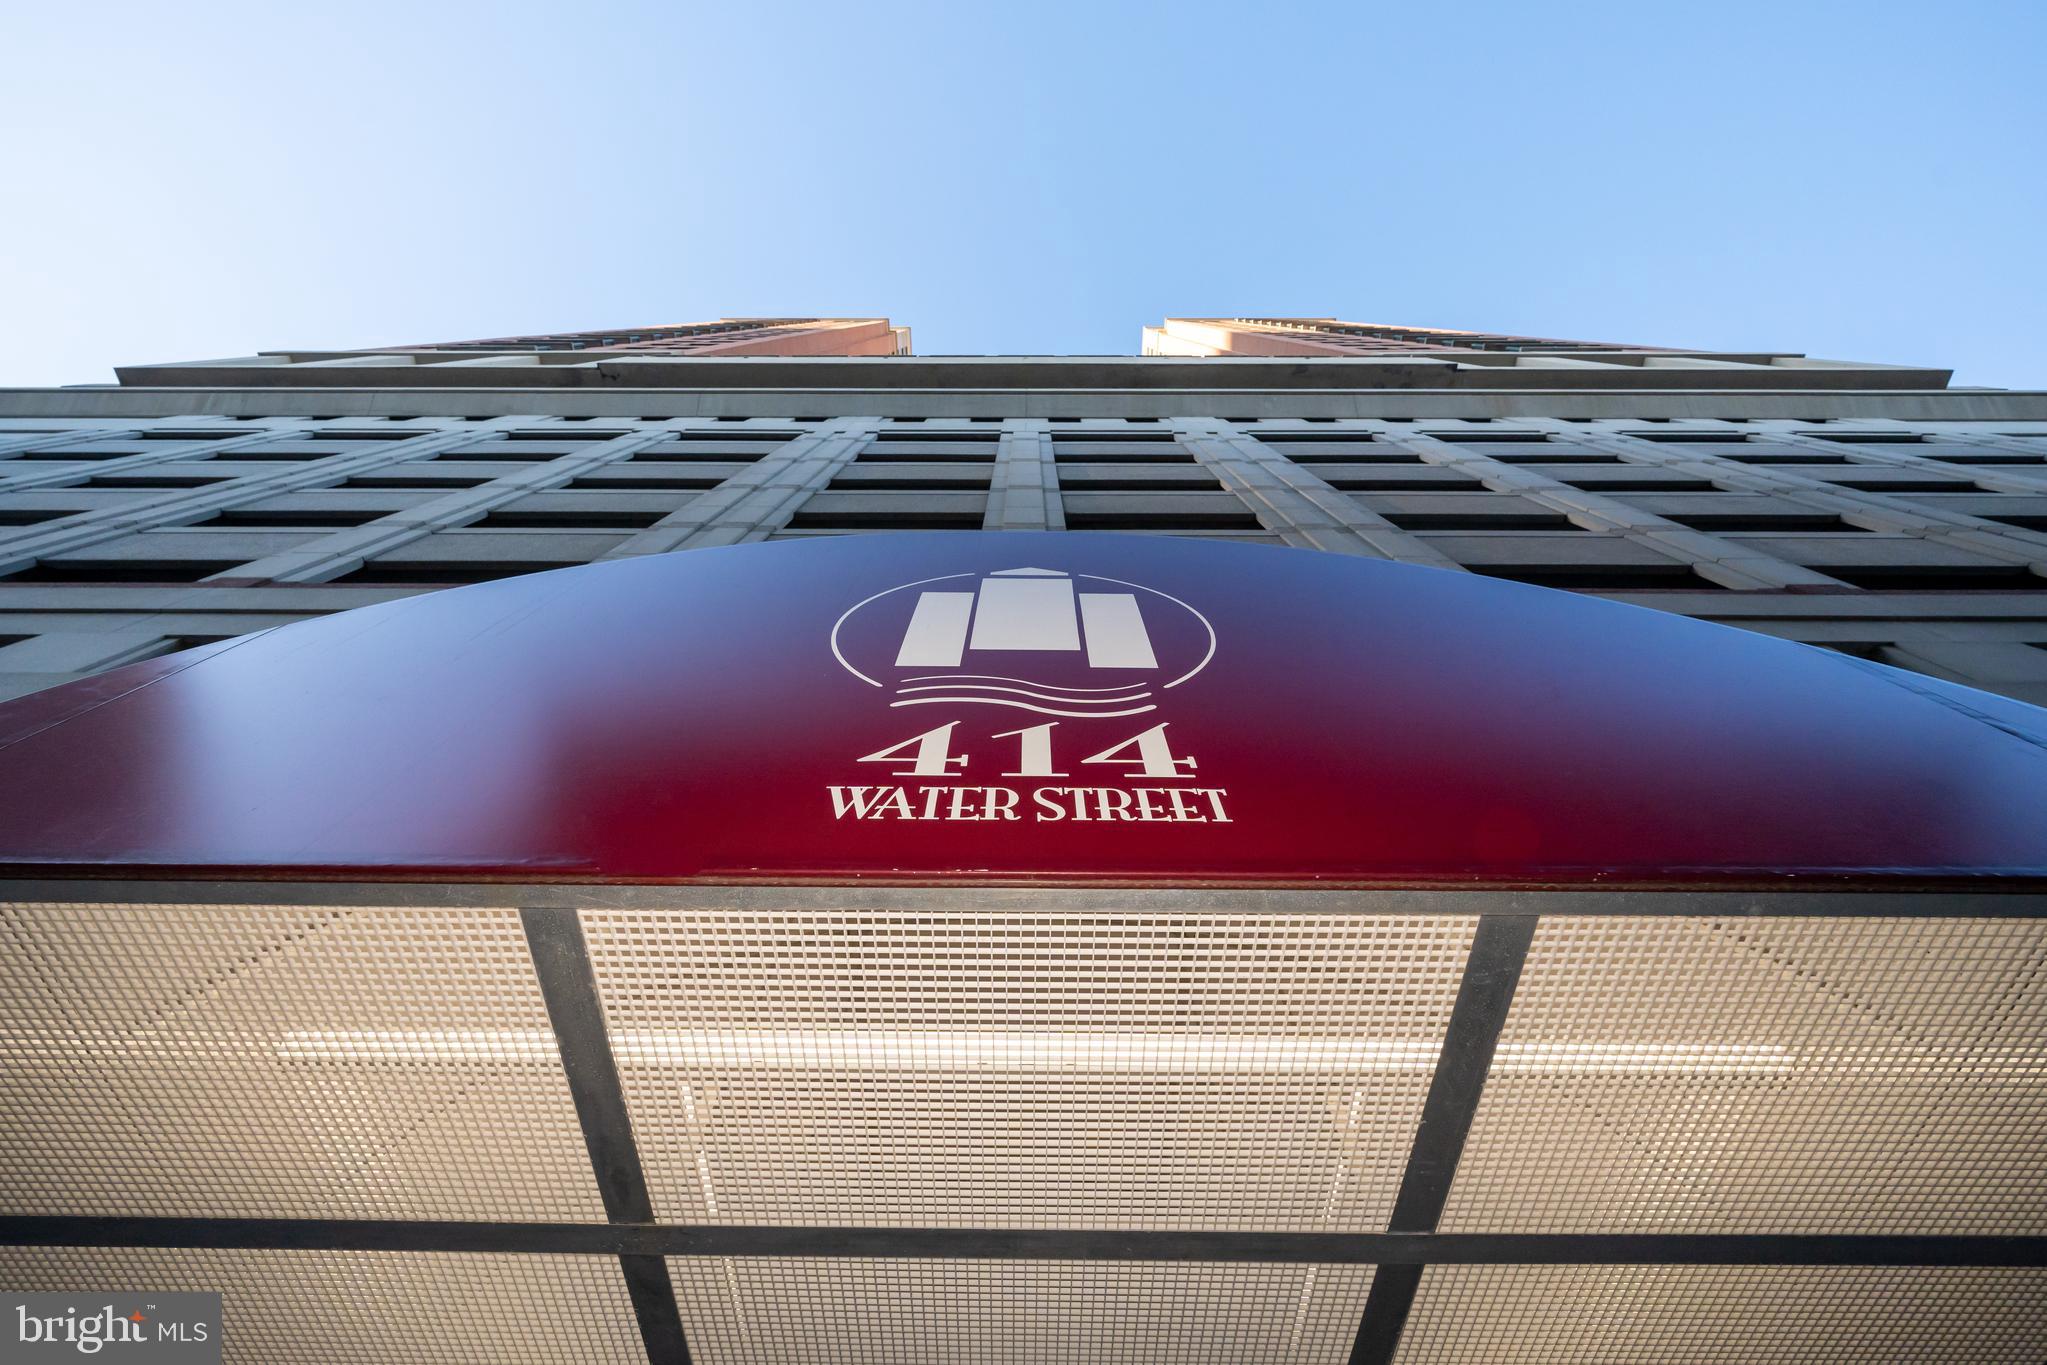
[[[2039,1365],[2047,1271],[1433,1265],[1396,1365]]]

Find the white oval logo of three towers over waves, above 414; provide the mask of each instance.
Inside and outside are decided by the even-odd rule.
[[[901,632],[856,622],[915,604]],[[882,653],[892,647],[892,655]],[[1142,583],[1060,569],[952,573],[854,604],[831,626],[831,653],[860,681],[892,690],[890,706],[1009,706],[1044,716],[1136,716],[1216,655],[1195,608]],[[856,663],[858,659],[858,663]],[[886,677],[886,681],[884,681]]]

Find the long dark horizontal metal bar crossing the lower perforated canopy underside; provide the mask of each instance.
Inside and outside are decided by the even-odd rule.
[[[1169,1232],[747,1224],[497,1224],[387,1218],[0,1218],[4,1246],[221,1246],[571,1257],[907,1257],[1279,1265],[2047,1267],[2047,1236],[1728,1232]]]

